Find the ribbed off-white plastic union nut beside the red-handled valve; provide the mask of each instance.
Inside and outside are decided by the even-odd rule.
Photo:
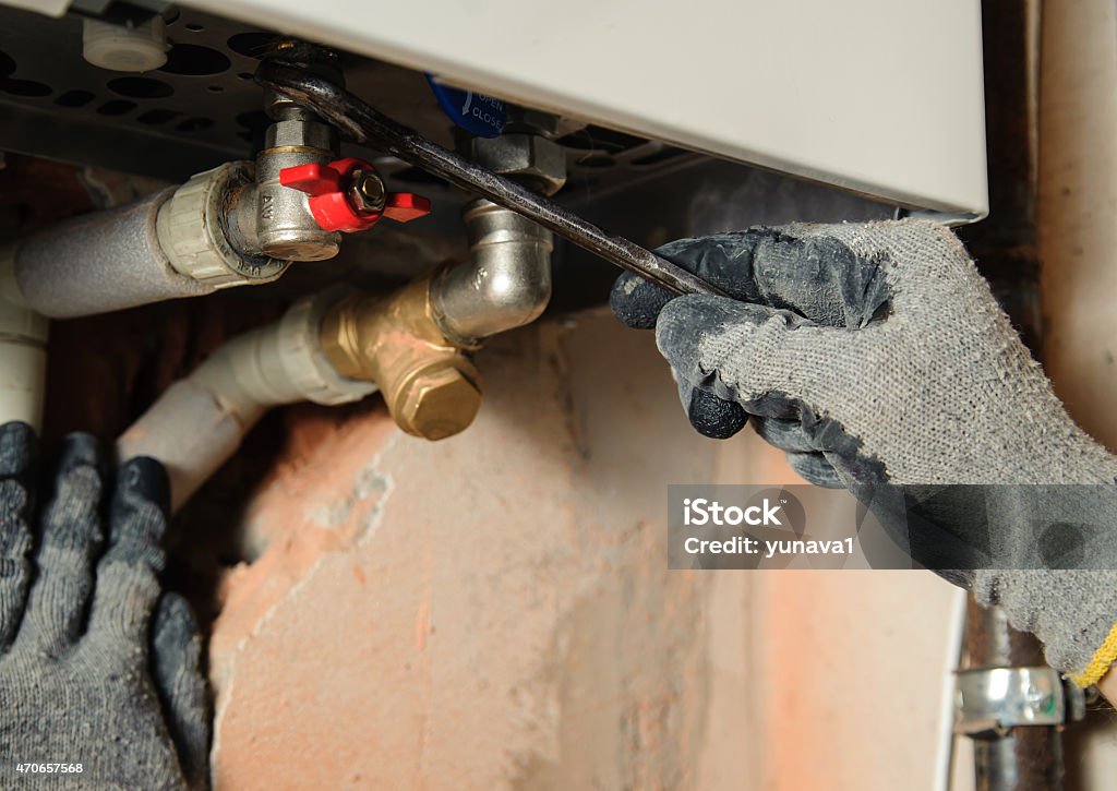
[[[229,288],[268,283],[290,264],[246,258],[226,237],[221,220],[228,185],[250,181],[251,168],[250,162],[227,162],[198,173],[160,208],[159,244],[176,271],[212,288]]]

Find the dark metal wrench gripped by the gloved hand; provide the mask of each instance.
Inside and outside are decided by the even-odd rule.
[[[613,236],[529,189],[432,143],[331,80],[311,74],[300,64],[265,60],[257,68],[256,82],[290,96],[332,121],[355,142],[374,144],[404,162],[535,220],[579,247],[610,264],[634,271],[671,294],[725,296],[720,289],[666,258],[623,237]]]

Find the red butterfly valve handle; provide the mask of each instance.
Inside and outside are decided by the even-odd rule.
[[[397,222],[410,222],[430,213],[430,200],[411,192],[389,192],[382,211],[354,208],[346,190],[354,171],[359,170],[376,172],[364,160],[349,156],[330,164],[311,162],[284,168],[279,171],[279,183],[309,196],[306,202],[322,230],[355,234],[372,228],[381,216]]]

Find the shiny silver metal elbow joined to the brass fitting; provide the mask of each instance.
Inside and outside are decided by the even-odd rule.
[[[551,231],[491,201],[462,212],[471,259],[431,282],[435,321],[462,345],[540,317],[551,301]]]

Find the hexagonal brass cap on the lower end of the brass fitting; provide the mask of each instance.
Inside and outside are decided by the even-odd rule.
[[[451,364],[421,370],[397,393],[392,417],[417,437],[452,437],[477,417],[481,407],[479,381],[479,374],[474,379]]]

